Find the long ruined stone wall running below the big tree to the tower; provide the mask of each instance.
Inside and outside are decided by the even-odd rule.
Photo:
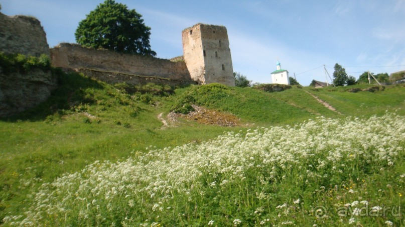
[[[184,61],[171,61],[152,56],[117,53],[109,50],[96,50],[82,47],[78,44],[61,43],[51,49],[52,65],[62,68],[78,70],[89,69],[89,74],[98,74],[98,78],[109,78],[114,83],[114,73],[120,74],[116,82],[125,80],[123,76],[137,77],[139,81],[147,77],[178,80],[179,82],[193,83]],[[91,72],[90,72],[91,71]],[[94,71],[98,71],[95,73]],[[106,73],[101,76],[100,73]],[[86,73],[84,73],[86,74]],[[115,78],[118,78],[115,77]],[[134,80],[133,80],[134,81]],[[158,81],[158,80],[156,80]],[[164,81],[164,80],[162,80]]]

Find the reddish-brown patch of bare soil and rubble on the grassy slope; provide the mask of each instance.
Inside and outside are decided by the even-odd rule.
[[[206,109],[198,105],[193,105],[194,111],[187,114],[170,112],[168,114],[169,119],[176,121],[178,117],[184,117],[188,120],[197,121],[202,124],[213,124],[221,126],[236,126],[239,124],[240,119],[235,115],[215,111],[212,109]]]

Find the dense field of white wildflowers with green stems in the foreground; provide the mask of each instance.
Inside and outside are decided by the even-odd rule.
[[[201,144],[148,147],[116,163],[96,161],[44,183],[31,207],[5,222],[399,225],[404,146],[405,117],[395,113],[225,132]],[[382,213],[388,205],[396,210]]]

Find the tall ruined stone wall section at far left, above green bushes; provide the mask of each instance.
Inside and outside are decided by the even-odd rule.
[[[41,22],[31,16],[0,13],[0,51],[25,55],[49,55],[49,45]]]

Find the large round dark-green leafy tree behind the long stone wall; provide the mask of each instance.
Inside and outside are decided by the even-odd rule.
[[[137,11],[105,0],[79,22],[75,36],[83,46],[155,56],[149,43],[150,30]]]

